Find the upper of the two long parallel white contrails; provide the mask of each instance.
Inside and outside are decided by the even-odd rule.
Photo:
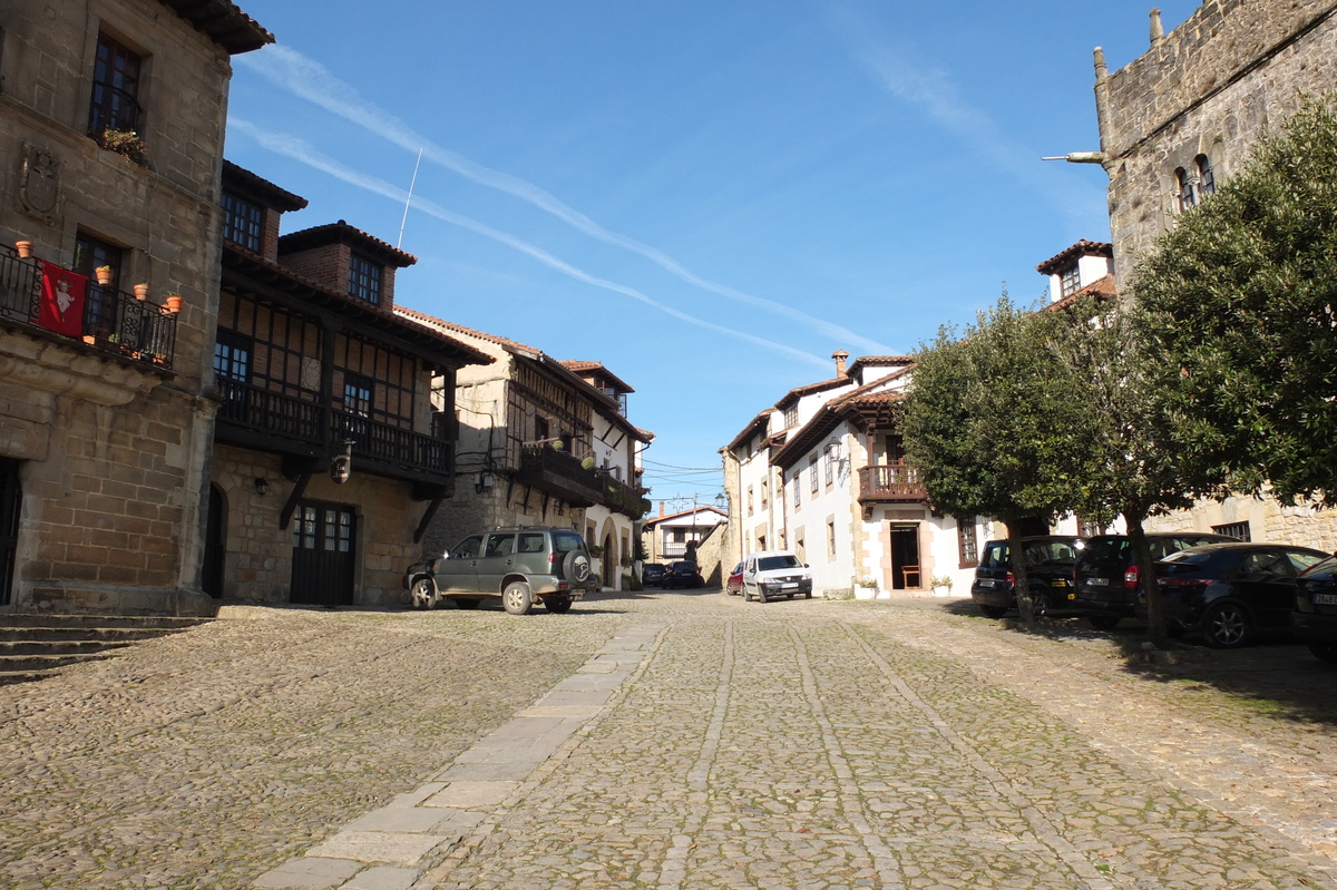
[[[271,45],[261,52],[238,56],[235,61],[237,64],[245,65],[261,73],[293,95],[305,99],[306,102],[310,102],[333,115],[344,118],[345,120],[362,127],[368,132],[373,132],[389,140],[405,151],[414,155],[421,151],[425,160],[445,167],[447,170],[451,170],[481,186],[503,191],[519,198],[520,200],[528,202],[529,204],[552,214],[568,226],[596,241],[614,247],[620,247],[648,259],[660,269],[677,275],[679,279],[693,285],[694,287],[699,287],[719,297],[725,297],[726,299],[745,303],[762,311],[800,322],[809,331],[817,331],[837,342],[848,343],[860,351],[874,354],[893,351],[884,343],[864,337],[862,334],[858,334],[842,325],[837,325],[825,318],[809,315],[800,309],[786,306],[785,303],[774,299],[749,294],[735,287],[702,278],[656,247],[651,247],[650,245],[642,243],[634,238],[604,229],[587,215],[566,204],[539,186],[520,179],[519,176],[512,176],[511,174],[484,167],[483,164],[464,158],[463,155],[432,143],[400,119],[360,98],[356,90],[333,76],[322,64],[303,56],[299,52],[295,52],[294,49],[283,45]],[[421,206],[417,199],[414,199],[414,206]]]

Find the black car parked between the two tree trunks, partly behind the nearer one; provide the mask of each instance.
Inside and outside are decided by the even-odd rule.
[[[1171,553],[1203,544],[1229,544],[1238,539],[1205,532],[1150,532],[1151,559],[1163,560]],[[1138,564],[1127,535],[1088,537],[1074,567],[1072,608],[1087,616],[1092,627],[1110,631],[1120,620],[1132,617],[1138,601]]]

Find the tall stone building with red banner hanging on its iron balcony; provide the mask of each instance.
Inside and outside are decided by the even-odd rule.
[[[5,4],[0,608],[213,611],[230,57],[270,41],[226,0]]]

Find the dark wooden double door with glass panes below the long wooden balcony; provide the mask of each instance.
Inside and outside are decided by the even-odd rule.
[[[293,603],[352,605],[357,517],[337,504],[302,502],[293,514]]]

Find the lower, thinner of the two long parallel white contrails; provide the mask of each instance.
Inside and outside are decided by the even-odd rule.
[[[350,186],[364,188],[369,192],[381,195],[382,198],[389,198],[394,202],[404,202],[408,199],[406,190],[400,188],[398,186],[393,186],[385,182],[384,179],[378,179],[376,176],[369,176],[364,172],[358,172],[352,167],[348,167],[346,164],[340,163],[338,160],[334,160],[333,158],[321,154],[310,143],[302,139],[283,134],[270,132],[267,130],[257,127],[249,120],[242,120],[233,116],[227,119],[227,127],[229,131],[246,134],[247,136],[254,139],[257,143],[259,143],[269,151],[273,151],[274,154],[283,155],[285,158],[291,158],[293,160],[303,163],[314,170],[320,170],[321,172],[328,174],[330,176],[334,176],[341,182],[346,182]],[[525,241],[521,241],[515,235],[492,229],[491,226],[487,226],[479,222],[477,219],[472,219],[469,216],[464,216],[463,214],[447,210],[445,207],[441,207],[433,200],[428,200],[425,198],[414,198],[413,206],[417,210],[428,214],[429,216],[435,216],[443,222],[448,222],[452,226],[468,229],[469,231],[483,235],[484,238],[491,238],[492,241],[503,243],[507,247],[511,247],[512,250],[517,250],[525,254],[527,257],[543,263],[544,266],[548,266],[550,269],[562,273],[563,275],[568,275],[570,278],[574,278],[592,287],[600,287],[603,290],[608,290],[615,294],[622,294],[623,297],[630,297],[631,299],[635,299],[640,303],[644,303],[646,306],[656,309],[664,313],[666,315],[671,315],[678,321],[694,325],[697,327],[703,327],[706,330],[711,330],[718,334],[725,334],[727,337],[745,341],[754,346],[761,346],[762,349],[778,351],[785,355],[789,355],[790,358],[797,358],[800,361],[817,365],[818,367],[822,369],[828,369],[830,366],[829,359],[825,359],[820,355],[814,355],[813,353],[805,353],[801,349],[794,349],[792,346],[777,343],[774,341],[765,339],[762,337],[755,337],[753,334],[737,330],[734,327],[717,325],[715,322],[706,321],[705,318],[698,318],[697,315],[685,313],[681,309],[675,309],[673,306],[668,306],[667,303],[662,303],[654,299],[652,297],[643,294],[635,287],[627,287],[626,285],[619,285],[618,282],[591,275],[583,269],[572,266],[564,259],[554,257],[552,254],[540,247],[536,247]]]

